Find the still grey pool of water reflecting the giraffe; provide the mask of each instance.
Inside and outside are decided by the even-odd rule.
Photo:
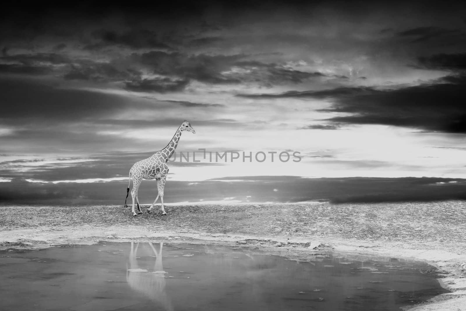
[[[287,258],[218,245],[63,245],[1,251],[0,306],[4,311],[399,310],[447,292],[433,269],[394,258],[333,253]]]

